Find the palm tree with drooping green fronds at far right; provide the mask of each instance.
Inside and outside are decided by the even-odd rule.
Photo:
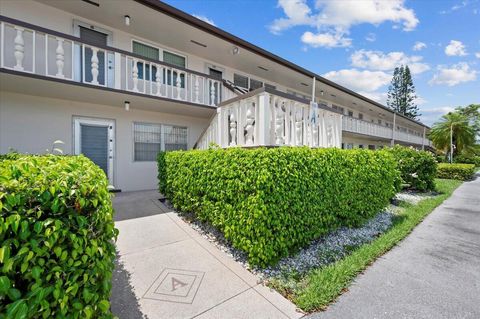
[[[450,112],[433,124],[429,135],[433,145],[446,154],[459,154],[475,145],[475,130],[468,118],[459,112]]]

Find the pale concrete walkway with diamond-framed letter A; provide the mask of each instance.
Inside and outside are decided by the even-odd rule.
[[[118,258],[112,311],[119,318],[299,318],[295,305],[257,284],[192,230],[156,191],[114,199]]]

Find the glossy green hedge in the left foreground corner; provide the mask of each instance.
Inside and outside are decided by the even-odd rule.
[[[84,156],[0,160],[0,318],[112,317],[107,186]]]

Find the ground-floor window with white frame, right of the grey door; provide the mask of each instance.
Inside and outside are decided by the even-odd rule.
[[[134,161],[156,161],[160,151],[186,150],[187,128],[154,123],[133,123]]]

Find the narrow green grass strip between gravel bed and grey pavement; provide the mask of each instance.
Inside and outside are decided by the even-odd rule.
[[[374,241],[352,250],[345,258],[328,266],[310,271],[304,276],[291,274],[295,288],[282,287],[280,282],[271,286],[292,300],[306,312],[323,310],[345,291],[352,280],[375,259],[405,238],[425,216],[447,199],[461,181],[437,179],[439,195],[424,199],[416,205],[402,203],[402,211],[394,218],[392,227]]]

